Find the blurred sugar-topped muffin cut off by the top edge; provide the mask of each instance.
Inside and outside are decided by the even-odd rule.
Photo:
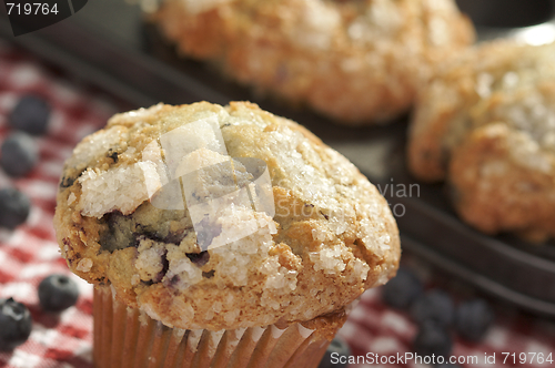
[[[186,57],[337,122],[386,122],[474,40],[453,0],[167,0],[153,17]]]

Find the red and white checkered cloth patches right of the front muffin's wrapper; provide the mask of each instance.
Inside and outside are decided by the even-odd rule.
[[[555,325],[553,321],[524,316],[511,307],[494,305],[496,311],[495,325],[488,330],[481,343],[468,343],[454,338],[452,357],[464,359],[461,367],[468,368],[494,368],[494,367],[554,367],[555,366]],[[387,358],[395,356],[394,364],[359,364],[350,368],[367,367],[423,367],[413,360],[397,361],[397,354],[404,356],[412,352],[412,340],[417,333],[416,325],[408,315],[403,311],[389,308],[381,301],[381,290],[370,289],[363,294],[361,303],[351,313],[347,321],[340,330],[353,350],[353,356],[365,356],[369,351]],[[505,352],[505,354],[504,354]],[[495,354],[495,364],[485,361],[485,356]],[[509,356],[507,356],[509,354]],[[515,354],[513,356],[513,354]],[[526,357],[525,364],[521,364],[522,357]],[[535,355],[534,355],[535,354]],[[553,364],[538,364],[538,354],[544,359],[552,354]],[[474,362],[468,357],[476,357]],[[374,361],[376,357],[374,356]],[[534,359],[533,362],[531,360]],[[505,362],[504,362],[505,360]],[[460,360],[462,361],[462,360]],[[515,362],[513,362],[515,361]]]

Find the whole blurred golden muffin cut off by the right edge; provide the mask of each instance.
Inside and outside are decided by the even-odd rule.
[[[496,41],[444,65],[418,96],[408,164],[446,180],[487,233],[555,235],[555,44]]]

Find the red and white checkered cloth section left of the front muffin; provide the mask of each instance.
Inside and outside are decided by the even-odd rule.
[[[53,75],[28,54],[0,43],[0,141],[12,131],[7,123],[9,112],[27,93],[46,98],[52,115],[48,133],[36,139],[41,157],[38,166],[18,180],[0,170],[0,187],[16,186],[32,202],[26,224],[14,231],[0,229],[0,298],[13,297],[27,305],[33,329],[13,352],[0,352],[0,367],[88,368],[92,367],[92,288],[72,275],[60,257],[52,216],[63,162],[77,142],[104,125],[117,109]],[[61,314],[47,314],[39,305],[37,287],[54,273],[71,275],[81,297]]]

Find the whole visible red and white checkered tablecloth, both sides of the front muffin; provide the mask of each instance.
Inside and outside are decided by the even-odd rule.
[[[0,187],[14,185],[32,201],[24,225],[10,232],[0,229],[0,298],[13,297],[32,314],[33,330],[29,340],[12,352],[0,352],[0,367],[61,368],[92,367],[92,288],[68,270],[60,258],[52,228],[56,192],[63,161],[84,135],[105,124],[118,111],[115,103],[97,92],[68,82],[63,75],[44,69],[36,59],[0,41],[0,140],[10,132],[7,115],[26,93],[37,93],[52,105],[48,134],[37,137],[40,164],[23,178],[11,180],[0,171]],[[53,273],[68,274],[78,282],[81,296],[74,307],[60,315],[41,310],[37,286]],[[433,279],[433,276],[431,277]],[[497,320],[484,341],[470,344],[455,339],[453,355],[476,356],[477,364],[462,367],[549,367],[548,364],[519,364],[521,352],[554,355],[553,321],[525,316],[496,305]],[[379,356],[404,356],[411,351],[416,326],[410,317],[383,305],[380,290],[369,290],[352,311],[340,335],[349,341],[354,357],[369,351]],[[503,352],[515,354],[503,364]],[[484,362],[485,355],[496,355],[496,364]],[[360,359],[360,358],[359,358]],[[529,361],[529,359],[528,359]],[[536,360],[537,361],[537,360]],[[357,364],[362,367],[421,367],[414,361]]]

